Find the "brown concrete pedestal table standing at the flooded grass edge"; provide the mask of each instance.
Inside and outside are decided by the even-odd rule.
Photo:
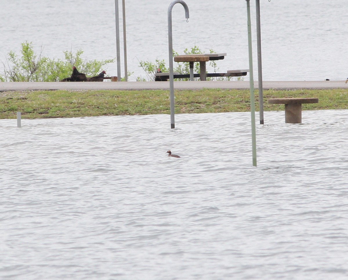
[[[318,98],[270,98],[270,104],[285,104],[285,123],[302,122],[302,104],[318,103]]]

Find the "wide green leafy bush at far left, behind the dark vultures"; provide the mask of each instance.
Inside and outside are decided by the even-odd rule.
[[[113,63],[116,59],[87,60],[82,59],[83,51],[63,51],[64,60],[42,57],[34,52],[32,42],[22,43],[21,56],[14,51],[8,53],[6,64],[3,64],[2,82],[57,82],[70,77],[72,66],[87,76],[95,76],[102,71],[104,65]]]

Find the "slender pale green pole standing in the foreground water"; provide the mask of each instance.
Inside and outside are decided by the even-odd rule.
[[[248,49],[249,49],[249,73],[250,73],[250,112],[251,112],[251,140],[253,148],[253,166],[256,166],[256,125],[255,125],[255,97],[254,97],[254,73],[253,73],[253,48],[251,41],[250,0],[246,0],[248,14]]]

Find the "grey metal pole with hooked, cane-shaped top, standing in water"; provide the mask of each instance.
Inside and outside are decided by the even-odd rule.
[[[173,1],[168,8],[168,52],[169,52],[169,90],[171,100],[171,128],[175,128],[174,122],[174,74],[173,74],[173,32],[172,32],[172,9],[176,3],[180,3],[185,9],[185,18],[189,18],[189,8],[182,0]]]

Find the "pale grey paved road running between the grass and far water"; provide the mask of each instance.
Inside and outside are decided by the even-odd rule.
[[[254,83],[255,89],[258,82]],[[180,81],[174,89],[249,89],[249,81]],[[348,89],[345,81],[264,81],[264,89]],[[0,82],[1,91],[13,90],[141,90],[169,89],[169,82]]]

